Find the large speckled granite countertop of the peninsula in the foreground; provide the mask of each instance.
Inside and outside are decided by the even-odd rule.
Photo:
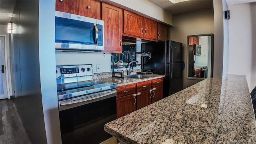
[[[207,78],[105,125],[126,144],[256,142],[246,77]]]

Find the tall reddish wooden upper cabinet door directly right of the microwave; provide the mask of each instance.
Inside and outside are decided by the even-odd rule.
[[[102,2],[102,20],[104,20],[104,50],[102,52],[122,53],[122,9]]]

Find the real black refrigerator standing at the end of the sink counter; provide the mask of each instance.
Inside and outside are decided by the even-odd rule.
[[[165,75],[164,97],[182,90],[182,43],[172,40],[141,44],[142,71]]]

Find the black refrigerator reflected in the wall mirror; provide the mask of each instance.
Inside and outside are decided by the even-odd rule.
[[[188,45],[188,77],[194,77],[196,55],[194,46]]]

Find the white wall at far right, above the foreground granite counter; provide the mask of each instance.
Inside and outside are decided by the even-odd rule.
[[[256,86],[256,2],[228,6],[228,74],[245,75]]]

